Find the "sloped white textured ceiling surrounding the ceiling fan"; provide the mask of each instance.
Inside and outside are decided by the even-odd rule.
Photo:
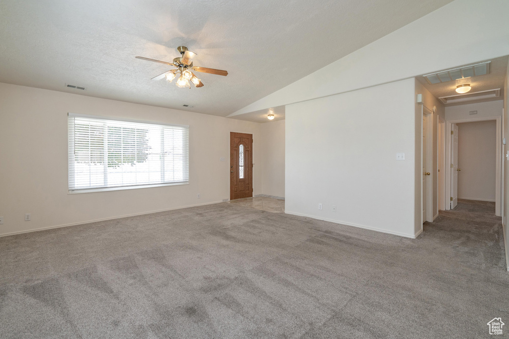
[[[0,82],[227,116],[450,1],[2,0]],[[179,89],[134,59],[180,45],[230,74]]]

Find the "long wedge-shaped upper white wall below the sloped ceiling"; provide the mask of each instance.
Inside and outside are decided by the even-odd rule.
[[[509,1],[506,0],[453,1],[234,115],[507,55],[508,15]],[[469,34],[458,29],[465,23],[472,27]]]

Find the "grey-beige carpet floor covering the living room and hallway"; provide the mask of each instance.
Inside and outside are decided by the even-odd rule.
[[[485,202],[417,239],[228,203],[0,238],[1,338],[479,338],[508,291]]]

